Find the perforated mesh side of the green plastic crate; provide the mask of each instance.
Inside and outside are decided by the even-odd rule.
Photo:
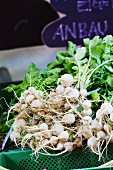
[[[101,161],[98,161],[98,156],[93,154],[89,149],[75,150],[71,154],[60,157],[40,155],[37,159],[30,157],[29,159],[22,159],[19,162],[20,170],[69,170],[87,167],[97,167],[105,162],[113,159],[113,145],[109,151],[104,153]]]

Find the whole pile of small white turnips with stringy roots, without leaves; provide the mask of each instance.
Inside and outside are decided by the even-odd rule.
[[[57,83],[49,93],[29,87],[21,94],[8,112],[17,112],[10,139],[17,146],[30,147],[34,154],[49,154],[48,149],[60,151],[58,154],[71,152],[86,140],[101,158],[113,143],[113,106],[104,102],[92,119],[93,101],[87,99],[87,90],[78,90],[70,74],[62,75]]]

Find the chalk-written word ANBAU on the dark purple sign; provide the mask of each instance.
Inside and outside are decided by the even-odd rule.
[[[72,25],[60,24],[53,35],[53,40],[59,38],[61,41],[73,39],[82,39],[92,36],[104,36],[108,30],[108,22],[105,21],[92,21],[90,24],[86,22],[76,23],[72,22]]]

